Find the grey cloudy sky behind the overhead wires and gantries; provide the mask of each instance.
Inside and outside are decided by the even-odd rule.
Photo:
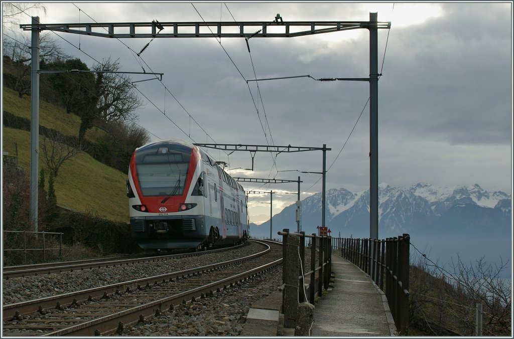
[[[472,185],[512,193],[512,3],[152,2],[41,3],[41,23],[369,21],[378,30],[379,182]],[[30,23],[25,15],[21,23]],[[167,32],[170,28],[165,28]],[[20,30],[21,31],[21,30]],[[29,34],[28,32],[20,32]],[[137,123],[152,140],[322,148],[326,189],[369,189],[369,31],[278,38],[107,39],[50,33],[90,67],[163,73],[136,84]],[[144,51],[143,47],[149,43]],[[80,49],[79,49],[80,46]],[[127,48],[128,46],[128,48]],[[248,51],[248,47],[250,52]],[[137,56],[137,53],[140,53]],[[312,78],[298,76],[310,75]],[[133,81],[150,79],[131,74]],[[289,78],[291,77],[291,78]],[[255,79],[287,78],[248,81]],[[248,82],[247,82],[248,81]],[[301,199],[321,192],[322,152],[208,149],[233,177],[298,180]],[[300,173],[300,172],[318,173]],[[273,194],[273,214],[295,203],[298,184],[249,184]],[[280,193],[283,192],[283,193]],[[295,193],[295,194],[291,194]],[[269,219],[269,193],[249,195],[250,221]]]

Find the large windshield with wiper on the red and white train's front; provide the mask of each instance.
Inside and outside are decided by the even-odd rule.
[[[189,168],[189,152],[174,152],[160,147],[136,157],[137,178],[145,197],[182,195]]]

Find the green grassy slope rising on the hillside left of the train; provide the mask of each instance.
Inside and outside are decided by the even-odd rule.
[[[3,109],[14,115],[30,119],[30,97],[18,98],[17,93],[3,88]],[[40,103],[40,124],[54,128],[61,133],[77,135],[80,118],[66,114],[61,107]],[[3,150],[16,155],[27,176],[30,170],[30,132],[19,129],[2,128]],[[88,139],[93,138],[91,131]],[[40,144],[42,143],[40,137]],[[40,154],[39,168],[45,168]],[[48,178],[48,171],[46,177]],[[59,170],[55,180],[57,203],[81,211],[95,211],[100,216],[114,221],[128,221],[128,198],[126,197],[126,173],[115,170],[81,153],[68,160]],[[38,175],[39,177],[39,175]],[[48,187],[47,187],[48,188]]]

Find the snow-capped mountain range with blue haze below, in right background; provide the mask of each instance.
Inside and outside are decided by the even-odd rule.
[[[434,250],[449,260],[450,255],[466,258],[482,254],[511,257],[511,196],[505,192],[487,192],[478,184],[439,187],[418,183],[409,188],[379,184],[378,238],[403,233],[420,248]],[[344,188],[326,192],[325,225],[333,237],[368,238],[370,235],[370,191],[351,192]],[[296,204],[273,216],[272,236],[287,228],[297,230]],[[321,225],[321,193],[301,202],[302,230],[317,233]],[[269,237],[269,220],[250,224],[250,235]],[[442,253],[445,252],[445,255]],[[466,253],[466,254],[465,254]]]

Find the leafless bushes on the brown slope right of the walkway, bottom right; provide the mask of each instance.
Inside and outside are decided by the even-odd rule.
[[[410,270],[410,325],[430,335],[474,335],[475,305],[483,306],[484,335],[511,335],[511,283],[502,278],[507,263],[484,258],[444,268],[426,255]]]

